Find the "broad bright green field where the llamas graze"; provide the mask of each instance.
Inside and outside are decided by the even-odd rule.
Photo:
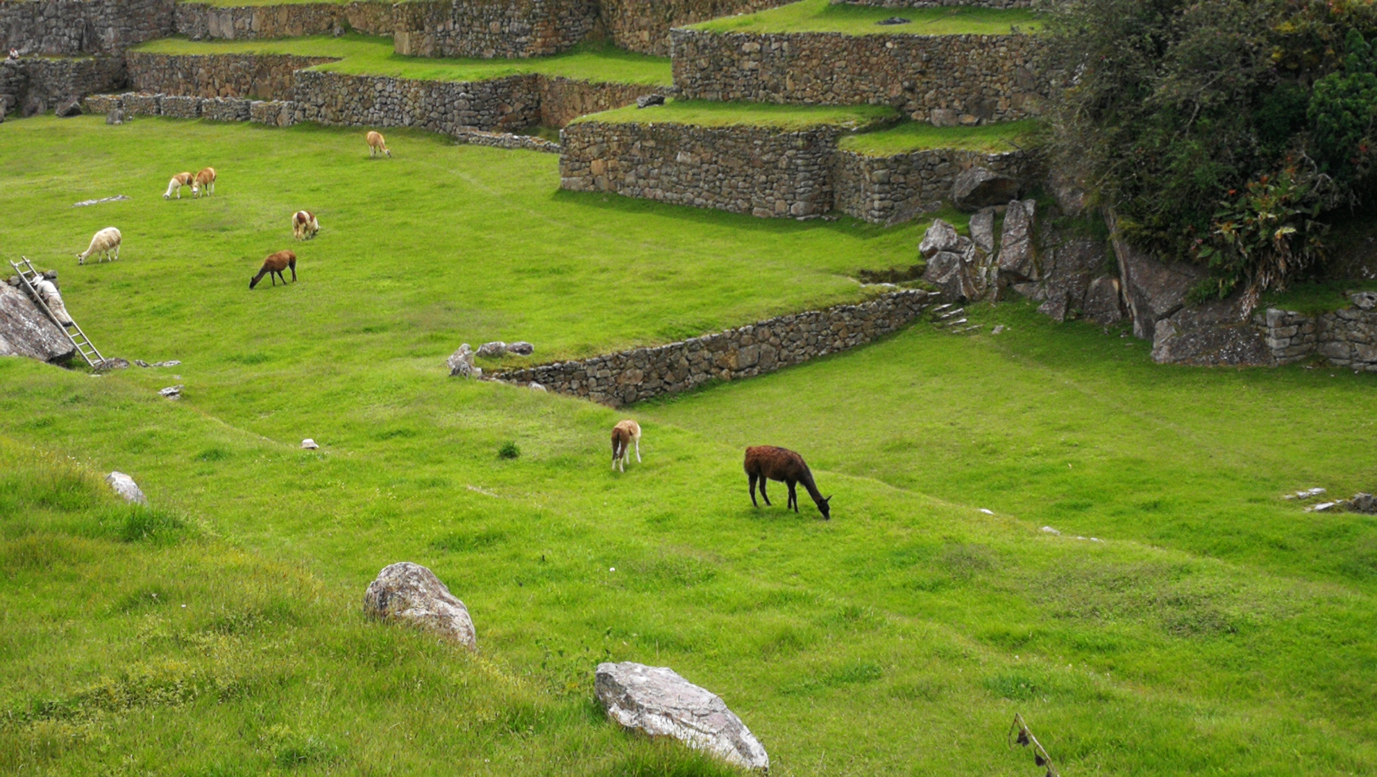
[[[569,194],[552,155],[388,140],[0,125],[0,256],[58,268],[107,355],[183,362],[0,359],[0,770],[726,774],[600,716],[613,659],[722,693],[772,774],[1041,773],[1015,711],[1067,776],[1377,773],[1377,520],[1279,498],[1373,487],[1371,375],[1155,366],[1004,304],[971,311],[1000,336],[918,323],[621,411],[457,381],[461,341],[544,360],[859,298],[921,226]],[[161,199],[205,164],[213,199]],[[121,259],[77,267],[109,224]],[[300,281],[249,292],[281,248]],[[611,473],[628,415],[644,463]],[[750,507],[756,443],[808,457],[832,521]],[[467,602],[476,657],[364,619],[401,560]]]

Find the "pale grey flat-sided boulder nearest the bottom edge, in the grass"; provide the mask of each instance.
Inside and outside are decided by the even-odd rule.
[[[741,718],[716,693],[668,667],[598,664],[593,693],[607,716],[628,729],[673,737],[735,766],[770,770],[766,748]]]

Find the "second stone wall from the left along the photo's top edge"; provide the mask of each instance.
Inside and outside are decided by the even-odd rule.
[[[218,7],[201,3],[176,6],[176,33],[191,40],[270,39],[330,34],[353,28],[364,34],[391,36],[392,4],[361,1],[299,3],[288,6]]]

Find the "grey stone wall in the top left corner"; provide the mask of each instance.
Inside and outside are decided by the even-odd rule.
[[[76,55],[172,34],[174,0],[0,0],[0,50]]]

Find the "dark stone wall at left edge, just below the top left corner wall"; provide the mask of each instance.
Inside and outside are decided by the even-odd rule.
[[[44,113],[66,98],[118,89],[125,80],[118,56],[7,59],[0,62],[0,114],[12,109]]]

